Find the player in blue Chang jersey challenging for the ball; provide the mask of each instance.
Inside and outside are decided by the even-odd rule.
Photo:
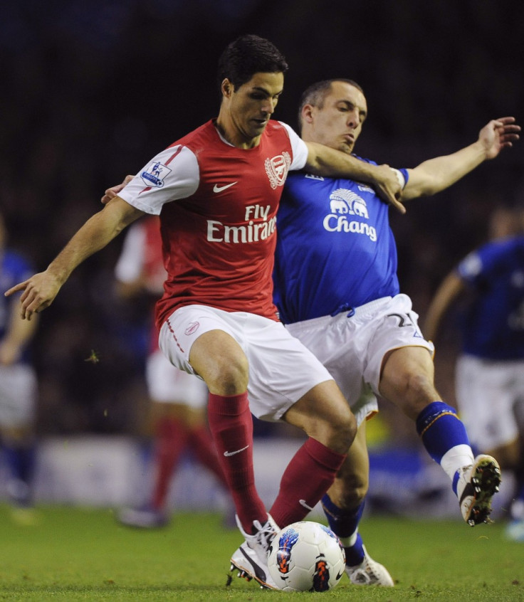
[[[299,117],[305,141],[352,154],[366,98],[352,80],[323,81],[305,91]],[[493,120],[458,152],[397,170],[403,201],[444,190],[497,157],[518,139],[514,122]],[[463,423],[435,389],[434,347],[421,334],[411,300],[399,292],[388,212],[361,182],[290,174],[278,211],[274,272],[281,320],[335,377],[360,425],[323,507],[345,546],[352,583],[383,586],[393,585],[391,576],[370,558],[358,533],[369,477],[365,418],[377,411],[377,394],[414,420],[429,455],[449,475],[468,524],[488,520],[501,480],[494,458],[473,457]]]

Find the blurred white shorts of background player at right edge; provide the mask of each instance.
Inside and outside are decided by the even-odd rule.
[[[455,371],[456,401],[473,445],[489,451],[518,438],[515,404],[524,400],[524,361],[463,355]]]

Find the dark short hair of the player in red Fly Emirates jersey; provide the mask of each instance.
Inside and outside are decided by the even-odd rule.
[[[270,41],[251,33],[236,38],[219,58],[219,88],[225,78],[236,90],[255,73],[285,73],[288,63],[281,51]]]

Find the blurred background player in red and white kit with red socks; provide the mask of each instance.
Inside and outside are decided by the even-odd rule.
[[[159,226],[157,216],[147,216],[127,231],[115,267],[117,292],[122,299],[135,300],[142,295],[152,302],[162,295],[166,272]],[[207,427],[206,384],[169,363],[158,348],[154,327],[146,359],[146,384],[154,447],[150,467],[153,489],[139,507],[122,509],[119,514],[123,524],[144,528],[162,527],[169,521],[169,485],[184,450],[191,450],[194,458],[211,470],[227,490]],[[234,517],[229,516],[231,512],[227,514],[225,524],[234,526]]]

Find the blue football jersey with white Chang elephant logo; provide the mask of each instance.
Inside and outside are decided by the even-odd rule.
[[[273,280],[285,324],[397,295],[389,205],[367,184],[291,172],[278,210]]]

